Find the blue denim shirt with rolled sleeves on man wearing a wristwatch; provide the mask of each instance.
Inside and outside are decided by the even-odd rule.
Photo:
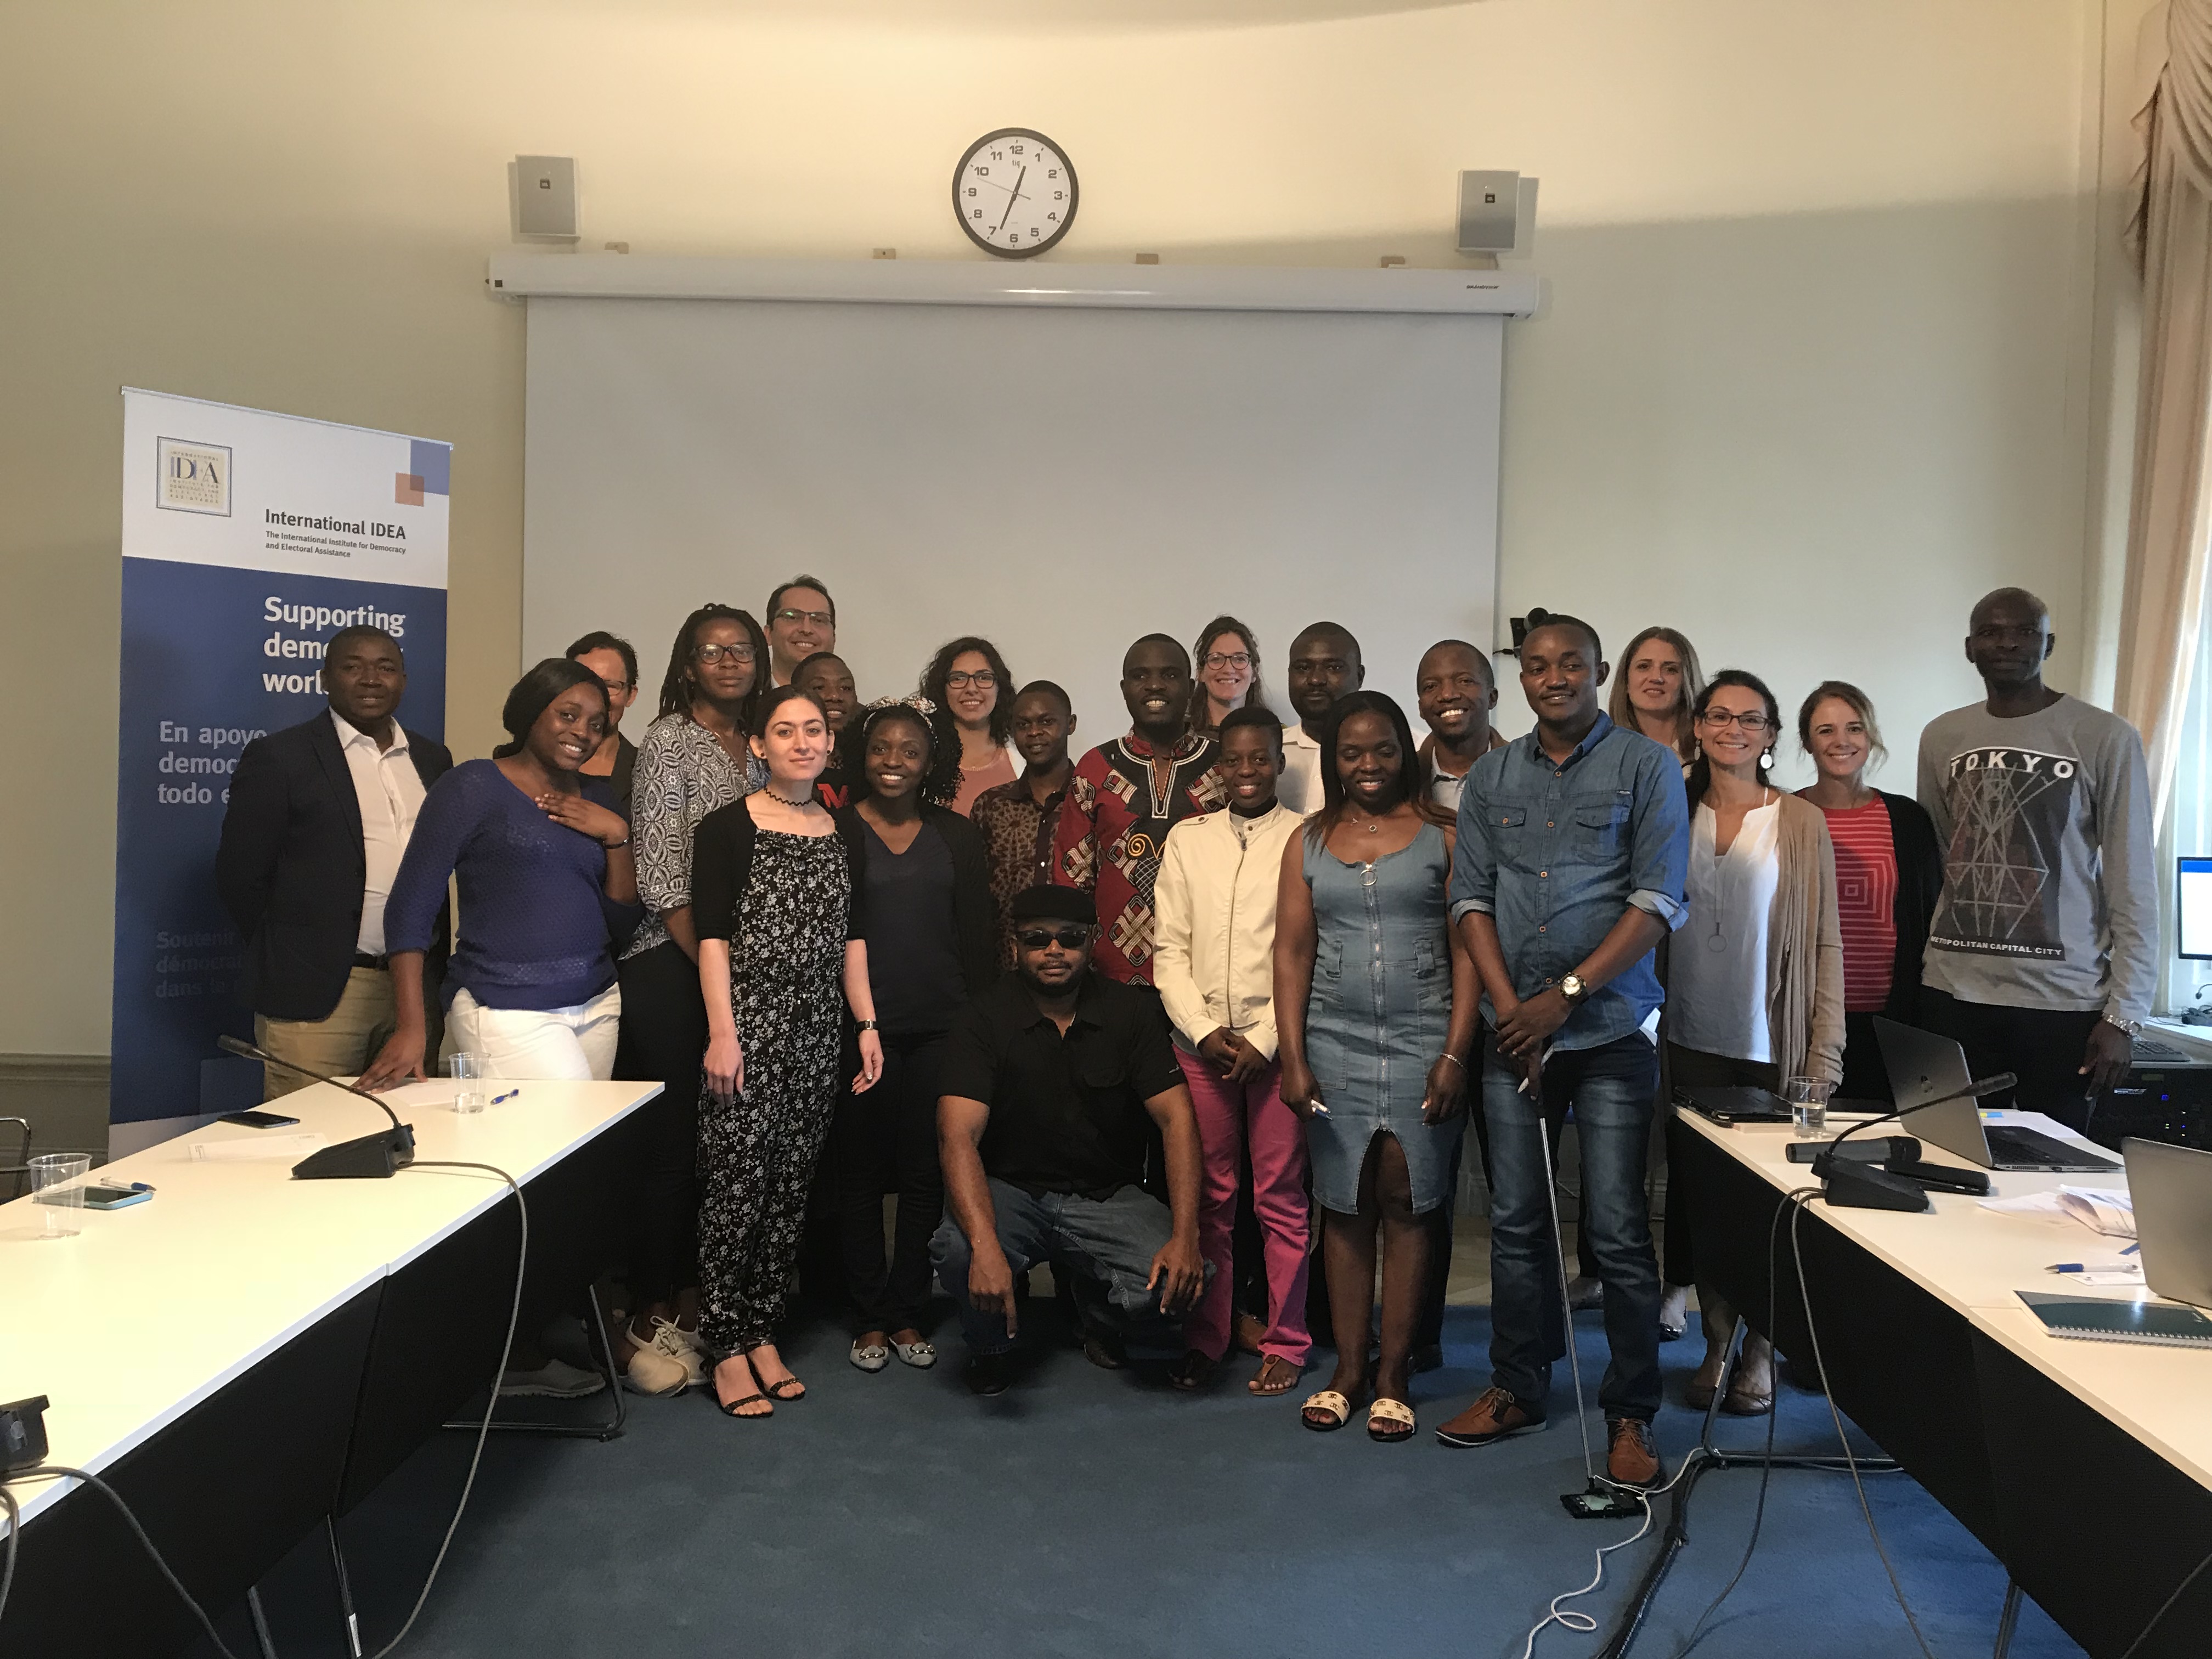
[[[1513,991],[1531,998],[1573,973],[1628,905],[1681,927],[1688,865],[1681,759],[1599,714],[1564,761],[1528,732],[1469,768],[1451,920],[1473,909],[1495,918]],[[1646,953],[1590,993],[1553,1044],[1599,1048],[1644,1026],[1661,1000]],[[1486,993],[1482,1013],[1498,1022]]]

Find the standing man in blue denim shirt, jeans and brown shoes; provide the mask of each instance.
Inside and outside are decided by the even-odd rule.
[[[1451,922],[1498,1033],[1482,1071],[1491,1130],[1491,1383],[1438,1429],[1486,1447],[1542,1427],[1566,1354],[1546,1137],[1582,1135],[1582,1259],[1606,1287],[1606,1473],[1659,1473],[1659,1263],[1644,1161],[1659,1088],[1652,947],[1683,920],[1690,814],[1674,752],[1597,706],[1590,624],[1546,615],[1520,650],[1535,730],[1484,754],[1460,794]]]

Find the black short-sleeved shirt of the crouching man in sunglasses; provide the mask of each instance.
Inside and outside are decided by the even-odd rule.
[[[1159,1000],[1084,975],[1066,1035],[1020,978],[982,991],[953,1024],[940,1095],[991,1108],[982,1168],[1031,1197],[1106,1199],[1144,1179],[1144,1104],[1183,1082]]]

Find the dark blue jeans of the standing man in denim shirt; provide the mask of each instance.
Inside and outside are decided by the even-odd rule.
[[[1659,1411],[1659,1263],[1652,1256],[1644,1164],[1650,1148],[1659,1053],[1632,1031],[1599,1048],[1566,1048],[1544,1066],[1544,1102],[1517,1088],[1520,1066],[1491,1048],[1482,1110],[1491,1130],[1491,1380],[1535,1409],[1551,1396],[1551,1363],[1566,1354],[1559,1256],[1544,1183],[1551,1133],[1575,1110],[1582,1141],[1582,1267],[1606,1287],[1613,1363],[1597,1400],[1606,1418]]]

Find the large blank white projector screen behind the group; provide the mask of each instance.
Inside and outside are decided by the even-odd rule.
[[[1121,653],[1219,613],[1290,714],[1334,617],[1407,706],[1431,641],[1491,644],[1502,316],[529,301],[522,657],[765,622],[821,575],[860,697],[978,633],[1057,679],[1077,750],[1126,730]],[[1418,730],[1418,719],[1416,719]]]

